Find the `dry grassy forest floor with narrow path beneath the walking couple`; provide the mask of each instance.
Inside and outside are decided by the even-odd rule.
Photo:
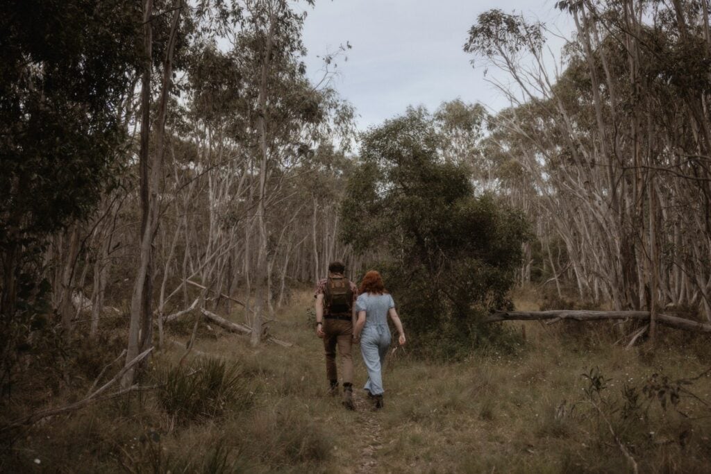
[[[516,304],[535,310],[535,299],[521,293]],[[199,326],[186,367],[204,355],[236,364],[248,403],[187,419],[176,395],[160,389],[98,402],[15,432],[0,472],[603,473],[632,472],[633,463],[640,472],[709,470],[711,377],[677,382],[710,367],[704,336],[663,329],[652,352],[615,344],[620,328],[607,323],[510,323],[517,333],[525,324],[515,353],[428,362],[397,350],[380,411],[360,389],[366,375],[356,350],[357,409],[347,411],[327,395],[323,346],[307,316],[312,301],[295,296],[272,323],[292,348],[253,349],[247,338]],[[168,338],[185,343],[191,319],[168,328]],[[406,311],[402,319],[407,325]],[[106,341],[105,352],[121,347],[118,337]],[[165,380],[183,352],[159,351],[146,382]],[[43,403],[61,406],[85,393],[93,377],[84,378],[73,392],[25,383],[40,389]],[[170,414],[166,399],[178,411]],[[38,399],[34,407],[28,400],[15,397],[1,421],[36,409]]]

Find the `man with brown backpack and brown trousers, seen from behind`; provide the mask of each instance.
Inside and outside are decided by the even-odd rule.
[[[328,265],[328,278],[316,286],[316,335],[324,340],[326,350],[326,377],[331,384],[329,393],[338,394],[336,345],[343,363],[343,406],[353,409],[353,324],[355,323],[355,298],[358,287],[345,276],[342,262]]]

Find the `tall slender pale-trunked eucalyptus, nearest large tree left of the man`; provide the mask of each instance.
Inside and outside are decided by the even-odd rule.
[[[333,91],[319,90],[306,78],[301,60],[306,54],[301,42],[305,15],[296,13],[284,0],[247,1],[245,28],[233,42],[242,64],[245,94],[250,97],[245,113],[250,117],[247,136],[257,144],[252,151],[255,181],[249,198],[256,235],[250,278],[255,284],[253,344],[262,337],[263,313],[268,306],[269,265],[274,257],[269,248],[270,234],[276,224],[270,214],[276,206],[284,205],[280,192],[285,181],[299,163],[309,158],[328,124],[345,123],[330,117],[349,112]]]

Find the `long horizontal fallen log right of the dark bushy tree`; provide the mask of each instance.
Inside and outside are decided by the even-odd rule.
[[[552,319],[557,321],[604,321],[609,319],[637,319],[649,321],[649,311],[584,311],[584,310],[555,310],[555,311],[494,311],[483,319],[484,323],[500,321],[538,321]],[[711,333],[710,323],[700,323],[690,319],[670,316],[668,314],[656,315],[656,321],[670,328]]]

